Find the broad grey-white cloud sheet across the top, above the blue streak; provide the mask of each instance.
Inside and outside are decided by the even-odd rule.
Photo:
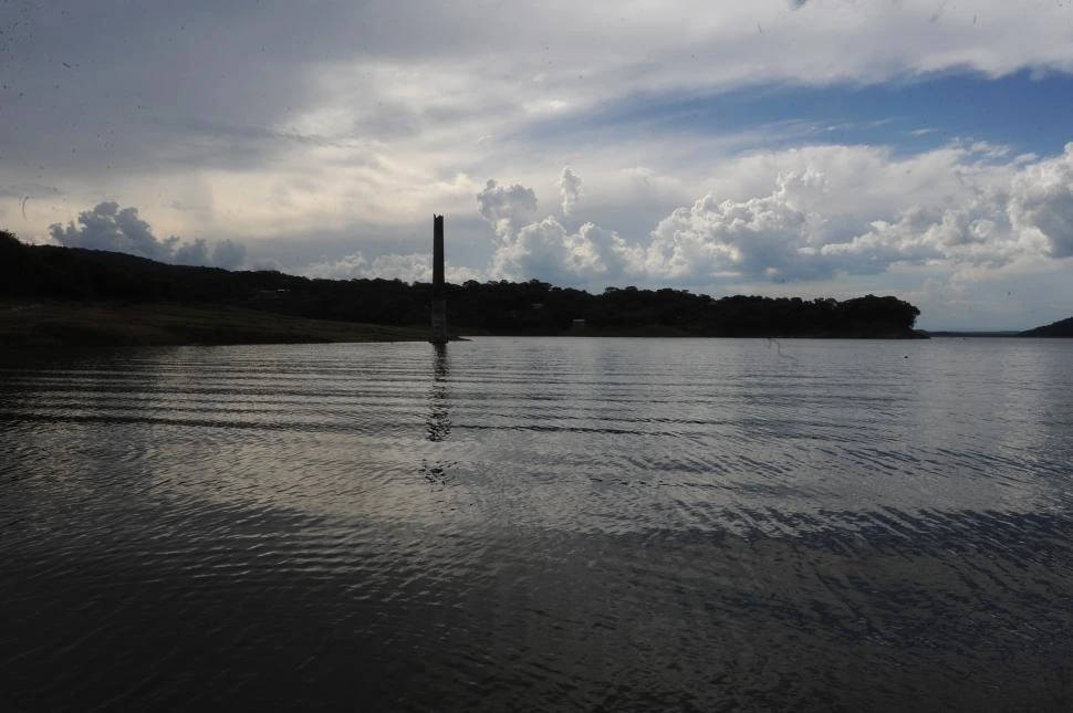
[[[38,172],[41,182],[79,192],[107,177],[147,207],[148,198],[131,191],[146,177],[166,177],[205,190],[184,205],[209,214],[213,200],[241,205],[269,230],[287,207],[259,207],[269,191],[248,184],[269,171],[281,184],[315,172],[331,195],[302,203],[296,220],[323,220],[321,229],[337,224],[326,213],[345,213],[338,206],[374,221],[392,208],[393,218],[425,209],[445,174],[510,167],[520,175],[517,167],[553,155],[549,140],[517,141],[544,125],[546,117],[527,111],[534,105],[562,106],[556,116],[584,120],[637,97],[674,103],[747,86],[1073,69],[1069,9],[1055,3],[1025,12],[981,0],[971,12],[948,8],[950,22],[929,23],[934,7],[923,2],[790,1],[796,12],[786,2],[668,1],[646,9],[644,22],[636,11],[612,17],[572,3],[549,12],[524,1],[510,12],[431,0],[405,9],[377,0],[317,3],[315,11],[267,0],[183,11],[164,0],[136,11],[118,0],[61,3],[62,11],[31,13],[28,27],[4,38],[11,130],[0,136],[0,182]],[[973,25],[976,14],[985,27]],[[51,41],[35,40],[43,36]],[[108,40],[116,36],[122,48]],[[502,46],[511,52],[488,62]],[[107,90],[115,86],[123,93]],[[56,111],[58,99],[77,112]],[[616,148],[632,150],[637,138],[618,136]],[[562,160],[554,157],[556,168]],[[593,176],[586,167],[586,180]],[[346,200],[350,191],[361,200]],[[232,217],[217,232],[238,234],[248,223]]]

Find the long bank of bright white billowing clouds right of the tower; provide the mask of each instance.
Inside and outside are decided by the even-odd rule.
[[[738,168],[782,166],[770,192],[709,192],[636,243],[591,222],[572,231],[554,217],[513,229],[493,223],[502,241],[489,273],[563,284],[756,284],[1073,256],[1073,144],[1050,159],[1008,154],[977,141],[907,159],[869,147],[750,158]],[[897,185],[907,190],[897,193]],[[535,203],[530,189],[514,188]]]

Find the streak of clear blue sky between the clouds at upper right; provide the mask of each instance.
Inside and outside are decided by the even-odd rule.
[[[867,144],[917,153],[955,139],[1052,155],[1073,140],[1073,75],[942,73],[884,84],[768,84],[719,94],[632,96],[531,125],[523,138],[759,133],[752,148]],[[753,138],[756,141],[757,138]]]

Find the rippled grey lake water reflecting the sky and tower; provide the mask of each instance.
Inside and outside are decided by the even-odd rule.
[[[1073,340],[0,357],[0,709],[1073,710]]]

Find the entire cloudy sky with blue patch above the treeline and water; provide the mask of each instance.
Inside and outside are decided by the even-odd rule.
[[[1073,0],[0,0],[0,228],[183,264],[1073,315]]]

